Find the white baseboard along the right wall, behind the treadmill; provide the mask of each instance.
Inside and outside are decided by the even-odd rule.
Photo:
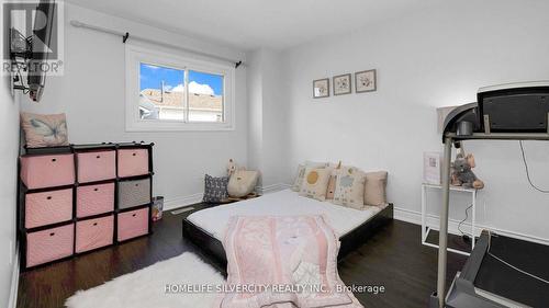
[[[394,219],[421,226],[422,225],[422,213],[416,212],[416,210],[406,209],[406,208],[395,207],[394,208]],[[449,219],[448,220],[448,232],[451,235],[461,235],[461,232],[458,230],[459,223],[460,223],[459,220]],[[427,226],[438,230],[439,229],[438,216],[430,215],[430,214],[427,215]],[[530,241],[530,242],[537,242],[537,243],[549,246],[549,239],[544,239],[544,238],[539,238],[539,237],[535,237],[535,236],[530,236],[530,235],[526,235],[526,233],[500,229],[500,228],[495,228],[495,227],[491,227],[491,226],[483,226],[483,225],[479,225],[479,224],[475,227],[474,235],[479,236],[481,233],[481,231],[484,229],[494,231],[498,235],[506,236],[509,238],[516,238],[519,240],[526,240],[526,241]],[[463,223],[461,225],[461,230],[467,232],[467,233],[471,232],[471,224]]]

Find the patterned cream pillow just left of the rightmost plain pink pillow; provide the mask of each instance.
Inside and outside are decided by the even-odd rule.
[[[337,172],[334,203],[356,209],[365,208],[366,174],[355,167],[343,167]]]

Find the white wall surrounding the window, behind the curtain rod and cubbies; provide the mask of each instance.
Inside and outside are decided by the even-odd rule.
[[[35,104],[25,99],[22,110],[67,113],[69,139],[74,144],[132,140],[155,142],[154,193],[164,195],[170,205],[200,198],[204,173],[223,175],[229,158],[246,163],[245,69],[236,70],[235,130],[127,133],[124,129],[125,64],[122,38],[76,28],[68,23],[76,19],[243,60],[244,53],[76,5],[66,4],[65,11],[65,75],[48,78],[42,102]]]

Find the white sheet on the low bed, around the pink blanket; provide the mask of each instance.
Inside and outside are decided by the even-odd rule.
[[[194,212],[187,218],[193,225],[202,228],[211,236],[223,241],[223,232],[231,216],[292,216],[322,215],[339,237],[362,225],[383,207],[368,206],[358,210],[330,202],[300,196],[291,190],[266,194],[258,198],[220,205]]]

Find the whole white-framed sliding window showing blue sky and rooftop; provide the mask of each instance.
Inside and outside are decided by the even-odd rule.
[[[234,67],[126,46],[126,130],[234,128]]]

